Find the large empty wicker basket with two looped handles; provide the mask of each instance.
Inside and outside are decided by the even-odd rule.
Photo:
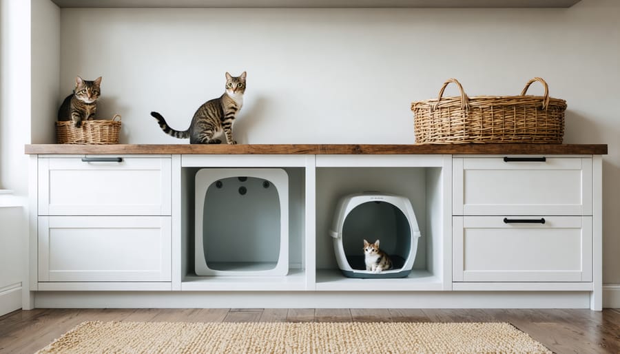
[[[532,83],[545,88],[544,96],[526,96]],[[442,97],[449,83],[461,96]],[[468,97],[456,79],[444,83],[437,99],[411,104],[415,114],[415,143],[552,143],[564,137],[566,101],[550,98],[547,83],[535,77],[520,96]]]

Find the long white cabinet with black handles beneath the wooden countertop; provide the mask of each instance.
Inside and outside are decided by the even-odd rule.
[[[300,156],[267,154],[262,146],[253,154],[251,145],[227,147],[242,148],[238,155],[196,153],[214,148],[188,145],[176,155],[112,156],[107,150],[92,155],[94,161],[70,149],[33,158],[37,174],[30,186],[37,200],[31,205],[38,214],[30,223],[30,286],[39,299],[52,301],[39,303],[73,306],[72,299],[82,298],[90,305],[92,294],[80,292],[99,291],[94,297],[110,306],[138,306],[141,295],[132,291],[161,291],[149,293],[161,306],[297,306],[303,300],[368,307],[369,289],[380,288],[404,307],[454,301],[583,307],[589,301],[591,309],[601,308],[600,156],[358,154],[365,147],[346,154],[304,147],[307,156]],[[195,275],[195,176],[209,167],[286,169],[287,275]],[[346,278],[335,264],[327,235],[333,207],[343,194],[360,190],[411,200],[423,238],[406,278]],[[129,298],[135,300],[125,302]]]

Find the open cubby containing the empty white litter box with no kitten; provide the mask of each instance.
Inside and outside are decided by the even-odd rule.
[[[287,183],[282,183],[282,178],[286,178]],[[304,285],[303,168],[183,167],[181,179],[183,290],[280,290],[298,289]],[[265,182],[269,184],[267,187]],[[227,196],[225,186],[230,187],[234,193]],[[242,187],[245,187],[244,195],[240,191]],[[201,190],[197,192],[199,188]],[[279,190],[276,193],[276,189],[281,188],[286,188],[286,193]],[[206,193],[207,198],[201,202],[196,199],[197,193]],[[268,203],[270,206],[260,205],[256,200],[245,205],[238,203],[249,200],[245,197],[251,193],[273,203]],[[209,194],[214,198],[211,200],[214,204],[208,202]],[[282,196],[287,198],[287,202],[280,204]],[[277,204],[278,210],[271,204]],[[280,220],[284,218],[280,216],[280,205],[287,208],[282,214],[287,214],[287,225],[282,227]],[[211,225],[207,225],[208,220],[203,220],[201,224],[196,216],[200,206],[204,212],[211,213],[218,220]],[[271,218],[274,220],[268,220]],[[212,242],[211,249],[214,250],[205,252],[202,260],[199,248],[201,242],[196,240],[196,231],[200,227],[205,228],[205,242]],[[231,231],[231,228],[237,230]],[[219,235],[236,239],[223,240],[218,238]],[[206,244],[203,246],[209,248]]]

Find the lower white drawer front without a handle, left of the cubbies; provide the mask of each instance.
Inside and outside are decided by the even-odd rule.
[[[169,282],[169,216],[39,216],[39,282]]]

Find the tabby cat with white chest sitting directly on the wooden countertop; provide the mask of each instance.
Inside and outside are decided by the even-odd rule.
[[[236,144],[232,136],[232,126],[236,114],[243,105],[245,76],[245,72],[240,76],[231,76],[226,73],[224,94],[198,107],[192,123],[183,132],[172,129],[158,112],[151,112],[151,115],[157,119],[159,127],[165,134],[175,138],[189,138],[191,144],[219,144],[222,141],[216,137],[221,134],[224,134],[227,143]]]

